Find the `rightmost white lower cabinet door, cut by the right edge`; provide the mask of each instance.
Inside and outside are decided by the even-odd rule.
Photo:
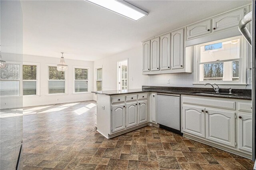
[[[238,114],[238,148],[252,152],[252,115]]]

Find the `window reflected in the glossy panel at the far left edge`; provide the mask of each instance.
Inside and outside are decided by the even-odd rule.
[[[6,63],[4,69],[0,69],[0,96],[20,95],[20,65]]]

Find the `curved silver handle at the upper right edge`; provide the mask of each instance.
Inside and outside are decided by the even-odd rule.
[[[252,36],[248,28],[246,27],[246,24],[248,24],[250,21],[252,21],[252,11],[246,14],[244,18],[240,20],[238,24],[238,29],[242,33],[242,35],[245,37],[247,42],[250,43],[250,45],[252,46]]]

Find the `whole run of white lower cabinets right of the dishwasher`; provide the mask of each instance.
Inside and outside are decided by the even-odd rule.
[[[181,100],[184,136],[251,158],[252,101],[189,95]]]

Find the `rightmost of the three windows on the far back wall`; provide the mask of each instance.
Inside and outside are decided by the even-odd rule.
[[[75,93],[88,92],[88,69],[75,68]]]

